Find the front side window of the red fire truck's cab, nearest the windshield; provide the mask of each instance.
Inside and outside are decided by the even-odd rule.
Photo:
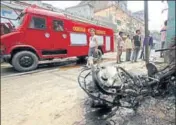
[[[29,28],[33,29],[46,29],[46,20],[41,17],[32,17]]]

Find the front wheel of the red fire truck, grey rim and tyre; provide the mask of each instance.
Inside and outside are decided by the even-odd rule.
[[[38,66],[38,57],[30,51],[21,51],[12,58],[13,67],[20,72],[31,71]]]

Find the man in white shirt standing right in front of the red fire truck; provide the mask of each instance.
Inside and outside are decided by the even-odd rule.
[[[88,52],[88,57],[90,59],[90,57],[93,59],[94,54],[96,52],[98,52],[98,40],[97,40],[97,36],[95,35],[95,29],[91,28],[90,29],[90,38],[89,38],[89,52]],[[89,66],[89,62],[90,60],[88,59],[87,61],[87,66]]]

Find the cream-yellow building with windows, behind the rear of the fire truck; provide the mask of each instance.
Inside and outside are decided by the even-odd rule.
[[[124,31],[127,34],[134,34],[137,29],[144,32],[144,22],[135,18],[129,11],[124,11],[118,5],[112,5],[101,10],[97,10],[94,16],[107,17],[116,24],[118,31]]]

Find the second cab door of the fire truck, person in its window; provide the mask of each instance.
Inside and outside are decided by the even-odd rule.
[[[55,54],[65,55],[68,48],[68,33],[65,31],[64,21],[59,19],[51,20],[51,39]]]

